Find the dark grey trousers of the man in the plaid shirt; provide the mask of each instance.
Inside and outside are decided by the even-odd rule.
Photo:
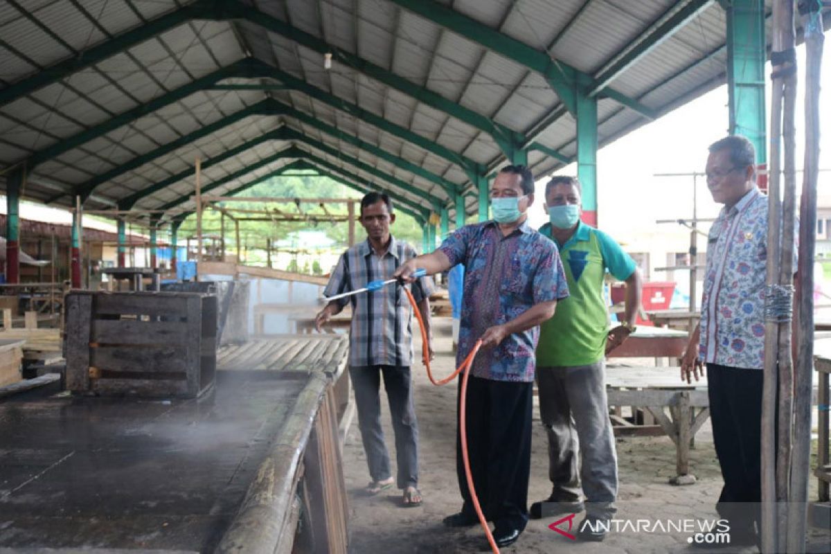
[[[390,453],[384,444],[381,428],[381,375],[384,376],[386,399],[390,403],[392,430],[396,435],[398,488],[418,486],[418,424],[410,379],[410,368],[396,365],[364,365],[350,367],[349,376],[355,390],[358,427],[366,452],[366,463],[373,481],[391,476]]]

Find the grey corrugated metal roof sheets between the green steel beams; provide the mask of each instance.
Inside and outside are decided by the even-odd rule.
[[[520,135],[536,129],[540,121],[558,108],[558,96],[543,76],[503,54],[488,51],[481,44],[436,22],[416,15],[391,0],[287,0],[254,2],[237,0],[261,15],[233,21],[191,20],[137,42],[126,50],[113,48],[110,56],[91,66],[47,81],[13,101],[0,104],[0,172],[43,149],[60,149],[51,159],[28,168],[32,198],[70,203],[70,196],[57,197],[59,190],[79,187],[106,171],[117,174],[100,184],[91,205],[109,203],[146,189],[171,175],[186,172],[194,157],[212,159],[238,148],[269,130],[286,125],[342,155],[361,160],[409,186],[433,194],[452,206],[452,199],[434,180],[411,174],[401,165],[410,163],[469,188],[470,176],[460,165],[460,156],[493,168],[503,156],[494,138],[469,117],[492,121],[504,130]],[[28,0],[26,13],[12,4],[0,5],[0,94],[38,72],[53,71],[57,63],[80,56],[90,47],[107,44],[154,18],[180,9],[190,2],[155,0],[83,0],[49,2]],[[550,48],[551,55],[578,71],[593,74],[608,66],[629,45],[641,39],[662,17],[671,15],[684,2],[671,0],[440,0],[441,6],[472,18],[475,23],[496,29],[508,37],[536,48]],[[767,2],[770,7],[770,0]],[[234,1],[230,2],[231,6]],[[259,23],[273,17],[275,26],[287,24],[288,35]],[[831,17],[826,17],[831,21]],[[281,23],[282,22],[282,23]],[[768,22],[770,27],[770,22]],[[292,34],[293,33],[293,34]],[[297,42],[294,39],[301,39]],[[357,63],[336,56],[331,70],[323,67],[327,47],[314,47],[313,40],[327,42],[332,51],[356,54]],[[302,43],[301,43],[302,42]],[[686,22],[666,41],[627,67],[612,81],[622,94],[663,113],[672,106],[709,90],[724,80],[725,13],[718,2],[711,3]],[[349,105],[331,105],[302,90],[214,90],[193,91],[150,113],[127,118],[120,125],[97,132],[98,125],[136,110],[149,101],[169,95],[194,79],[221,67],[252,57],[288,72],[317,88],[318,94],[332,95],[332,102],[346,101],[419,135],[426,143],[440,145],[453,153],[447,159],[415,145],[394,130],[381,130],[356,117]],[[401,79],[409,91],[385,83]],[[278,85],[279,80],[252,80],[232,76],[221,81],[229,86],[258,83]],[[463,108],[450,115],[431,105],[430,96]],[[392,163],[372,152],[356,148],[350,141],[322,132],[317,125],[292,115],[253,115],[225,126],[188,144],[165,148],[182,137],[196,136],[205,125],[224,120],[247,106],[268,98],[290,105],[342,133],[404,160]],[[598,103],[598,137],[601,144],[643,125],[647,118],[609,99]],[[95,136],[69,149],[66,140],[95,130]],[[575,153],[575,125],[565,113],[538,130],[541,145],[565,156]],[[352,174],[377,183],[376,175],[345,164],[342,159],[299,142],[300,147],[322,159],[343,165]],[[204,169],[206,183],[225,179],[236,171],[253,166],[287,146],[285,140],[259,144],[237,156]],[[134,169],[121,171],[125,164],[155,150],[170,150]],[[253,169],[219,187],[230,190],[273,172],[290,160],[280,159]],[[535,171],[546,173],[562,164],[538,150],[529,153]],[[0,177],[0,181],[4,178]],[[38,184],[39,183],[39,184]],[[187,177],[142,197],[137,206],[153,208],[187,196],[193,189]],[[392,187],[396,189],[396,187]],[[416,205],[424,199],[398,190]],[[467,199],[475,208],[476,200]]]

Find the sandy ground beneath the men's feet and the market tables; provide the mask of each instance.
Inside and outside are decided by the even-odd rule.
[[[434,375],[441,377],[453,370],[450,352],[449,321],[436,321]],[[420,352],[420,344],[416,343]],[[420,356],[419,356],[420,358]],[[481,527],[457,530],[441,524],[442,517],[458,512],[461,498],[455,473],[455,382],[436,387],[430,384],[423,366],[414,367],[416,414],[420,427],[420,489],[425,501],[421,507],[400,507],[397,490],[368,497],[363,488],[370,480],[357,422],[347,435],[344,449],[344,475],[350,503],[350,552],[352,554],[397,554],[399,552],[488,552]],[[383,394],[383,393],[382,393]],[[382,402],[386,404],[386,401]],[[529,503],[546,498],[550,492],[546,441],[535,408],[534,439],[529,485]],[[383,415],[386,444],[395,463],[389,412]],[[698,482],[676,487],[667,483],[674,475],[675,447],[666,437],[617,439],[620,468],[620,491],[617,517],[678,521],[683,519],[717,519],[715,499],[721,476],[712,444],[710,425],[696,435],[691,451],[691,473]],[[395,469],[393,469],[395,474]],[[810,498],[816,498],[812,480]],[[559,517],[532,520],[512,547],[502,552],[707,552],[691,548],[691,533],[610,532],[602,543],[574,542],[553,532],[548,525]],[[578,514],[575,524],[582,519]],[[811,532],[811,552],[831,552],[829,534]],[[718,552],[758,552],[755,548],[721,548]]]

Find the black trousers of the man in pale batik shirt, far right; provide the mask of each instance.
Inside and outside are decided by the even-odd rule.
[[[716,508],[742,531],[759,520],[762,501],[762,380],[762,370],[707,364],[713,441],[725,482]]]

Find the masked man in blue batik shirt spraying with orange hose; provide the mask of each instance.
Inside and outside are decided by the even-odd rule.
[[[499,547],[516,542],[528,522],[534,349],[539,324],[568,297],[563,265],[554,243],[530,228],[534,178],[509,165],[490,187],[494,219],[466,225],[435,252],[406,262],[396,277],[411,280],[416,268],[428,275],[465,264],[465,286],[457,363],[477,339],[482,350],[470,370],[465,417],[470,469],[484,516],[494,522]],[[460,380],[461,381],[461,380]],[[463,499],[448,527],[478,522],[459,448],[456,467]]]

